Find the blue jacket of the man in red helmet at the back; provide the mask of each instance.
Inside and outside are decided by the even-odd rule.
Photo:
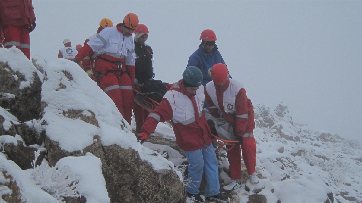
[[[206,53],[200,44],[199,49],[189,57],[189,62],[186,67],[193,65],[201,70],[203,76],[202,85],[205,87],[206,84],[212,80],[210,76],[212,66],[218,63],[225,64],[225,61],[218,51],[216,44],[210,53]]]

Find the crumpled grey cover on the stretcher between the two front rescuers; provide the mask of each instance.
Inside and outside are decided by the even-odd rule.
[[[216,132],[218,133],[219,137],[224,140],[236,140],[234,137],[234,131],[232,126],[228,124],[225,118],[215,118],[211,116],[210,111],[204,108],[206,120],[211,119],[215,123]]]

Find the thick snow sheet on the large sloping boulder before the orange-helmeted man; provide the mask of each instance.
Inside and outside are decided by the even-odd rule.
[[[152,150],[137,141],[131,126],[113,101],[79,65],[70,60],[56,59],[46,63],[45,72],[42,102],[46,107],[42,120],[47,122],[47,136],[59,142],[63,150],[82,151],[94,142],[94,135],[99,135],[103,146],[117,144],[138,151],[140,158],[151,163],[155,171],[174,167],[172,162],[159,154],[154,156]],[[94,117],[98,126],[80,118],[70,118],[72,111],[80,111],[89,119]]]

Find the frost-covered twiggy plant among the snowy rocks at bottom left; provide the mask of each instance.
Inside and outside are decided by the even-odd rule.
[[[31,172],[31,177],[36,184],[41,186],[41,189],[52,195],[59,202],[62,202],[64,197],[80,197],[77,194],[77,180],[72,174],[69,166],[63,168],[49,167],[47,164],[35,165],[35,161],[39,156],[40,151],[34,152],[35,159],[33,160],[34,170]]]

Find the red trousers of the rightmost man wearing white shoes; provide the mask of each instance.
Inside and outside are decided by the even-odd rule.
[[[243,146],[235,146],[230,151],[226,151],[229,161],[229,170],[231,179],[241,179],[241,152],[243,154],[244,163],[247,167],[248,174],[252,175],[255,172],[256,166],[256,144],[253,137],[243,138]]]

